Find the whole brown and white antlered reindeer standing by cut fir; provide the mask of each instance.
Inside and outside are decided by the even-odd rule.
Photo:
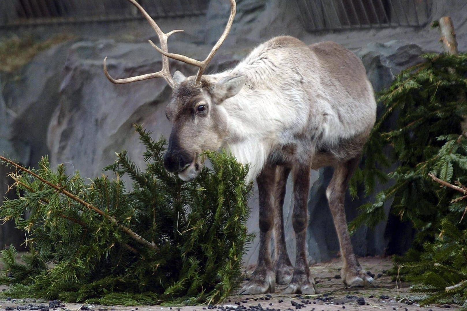
[[[256,179],[259,192],[260,250],[258,263],[241,294],[273,292],[275,284],[288,284],[284,293],[315,294],[314,278],[306,259],[307,199],[311,169],[333,166],[326,196],[339,237],[342,281],[348,287],[375,286],[354,255],[347,231],[344,195],[357,166],[361,149],[375,123],[373,88],[359,58],[334,42],[310,46],[290,36],[272,38],[255,48],[235,68],[204,74],[225,40],[235,16],[235,0],[226,28],[204,61],[170,53],[169,33],[135,1],[128,0],[154,28],[163,55],[155,73],[114,79],[130,83],[163,77],[173,89],[166,116],[173,124],[164,166],[182,180],[192,180],[203,166],[202,153],[226,148],[250,165],[248,179]],[[197,66],[196,76],[173,76],[169,58]],[[283,229],[286,180],[292,173],[293,218],[296,236],[295,267],[290,262]],[[275,261],[270,240],[274,235]]]

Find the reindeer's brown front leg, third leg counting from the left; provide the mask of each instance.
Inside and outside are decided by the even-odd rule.
[[[306,228],[308,226],[308,211],[306,202],[308,200],[308,190],[310,186],[310,166],[307,164],[297,164],[292,171],[294,207],[292,214],[292,227],[297,240],[297,255],[292,280],[285,289],[284,294],[316,294],[316,285],[311,277],[308,261],[306,260]]]

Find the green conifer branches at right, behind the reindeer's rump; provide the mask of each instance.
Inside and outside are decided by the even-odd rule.
[[[375,195],[374,202],[361,206],[361,214],[349,228],[374,227],[386,217],[384,204],[388,202],[390,213],[410,221],[417,230],[409,252],[396,257],[403,278],[414,282],[412,290],[424,294],[425,304],[446,299],[464,304],[466,197],[446,185],[467,190],[463,186],[467,182],[467,138],[461,135],[467,116],[467,54],[423,57],[425,62],[401,72],[381,94],[381,117],[351,190],[356,194],[357,185],[363,183],[368,195],[377,179],[389,178],[391,184]],[[388,129],[391,122],[395,127]],[[385,176],[382,169],[389,167],[391,172]]]

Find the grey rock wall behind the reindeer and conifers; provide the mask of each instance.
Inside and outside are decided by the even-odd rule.
[[[198,59],[204,58],[203,55],[207,55],[212,42],[217,41],[219,32],[223,30],[228,14],[224,13],[228,12],[225,2],[211,0],[205,17],[186,19],[182,23],[183,27],[178,24],[180,19],[162,21],[163,29],[188,30],[183,35],[174,35],[175,39],[170,41],[170,49]],[[398,71],[419,62],[418,56],[422,50],[436,49],[438,35],[429,28],[416,30],[421,34],[418,43],[426,43],[428,47],[423,45],[423,49],[420,44],[410,40],[392,40],[399,37],[413,38],[415,30],[410,33],[404,29],[399,36],[397,32],[401,29],[397,28],[311,35],[305,33],[303,25],[297,22],[297,8],[290,5],[290,1],[237,2],[238,14],[232,34],[207,72],[233,66],[248,50],[271,36],[289,34],[298,36],[307,43],[332,39],[352,48],[361,57],[368,77],[377,91],[387,87]],[[444,6],[438,7],[441,13],[446,10]],[[460,16],[457,22],[461,25],[458,31],[460,38],[465,30],[465,18]],[[102,72],[102,60],[105,56],[108,56],[108,69],[116,78],[160,69],[160,56],[143,40],[154,40],[154,35],[148,31],[149,25],[145,22],[137,25],[122,29],[116,29],[118,27],[115,25],[109,28],[102,26],[100,33],[80,33],[78,38],[37,55],[20,72],[0,73],[3,85],[1,92],[5,98],[4,101],[0,100],[0,152],[32,166],[42,155],[48,154],[53,165],[66,163],[70,173],[72,170],[79,170],[86,177],[101,174],[102,167],[113,163],[115,152],[122,149],[128,150],[129,156],[139,159],[137,162],[142,164],[144,148],[139,143],[132,124],[143,124],[153,131],[155,138],[159,135],[168,137],[170,124],[164,110],[171,90],[163,79],[115,85]],[[135,33],[135,29],[139,27],[145,30]],[[128,40],[129,37],[132,39]],[[429,37],[431,41],[428,41]],[[372,42],[371,39],[379,43]],[[467,46],[465,41],[460,40],[460,49]],[[171,68],[181,70],[185,75],[196,71],[179,62],[171,62]],[[331,168],[322,168],[311,174],[307,235],[311,262],[328,260],[337,256],[339,251],[337,235],[325,199],[325,188],[331,176]],[[0,181],[4,184],[2,178],[0,177]],[[290,181],[288,189],[291,189]],[[356,207],[362,201],[352,201],[348,196],[346,200],[347,218],[350,220],[356,215]],[[293,260],[295,238],[291,226],[293,200],[290,191],[286,194],[284,205],[286,240],[290,258]],[[252,217],[248,221],[248,228],[259,235],[256,193],[251,199],[250,207]],[[352,238],[357,255],[384,255],[388,253],[388,248],[390,252],[405,250],[407,244],[397,241],[401,240],[401,236],[403,241],[410,241],[410,228],[397,232],[388,230],[394,226],[397,226],[396,220],[391,219],[389,223],[381,223],[375,231],[361,228]],[[3,243],[1,235],[0,243]],[[256,239],[245,257],[247,265],[256,262],[257,243]]]

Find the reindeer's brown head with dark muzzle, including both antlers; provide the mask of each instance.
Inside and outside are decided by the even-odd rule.
[[[245,77],[231,76],[221,80],[215,76],[203,76],[203,73],[214,54],[228,35],[235,16],[235,0],[230,0],[231,11],[224,33],[212,48],[204,61],[168,52],[167,39],[170,35],[183,30],[172,30],[163,33],[156,22],[135,0],[128,0],[137,7],[149,24],[154,28],[161,43],[161,48],[152,41],[149,43],[163,55],[162,69],[155,73],[123,79],[113,79],[106,68],[104,73],[113,83],[130,83],[155,77],[163,77],[173,89],[172,99],[166,108],[166,116],[172,123],[169,147],[164,155],[164,166],[178,173],[182,180],[192,180],[200,172],[204,159],[202,153],[217,150],[226,137],[227,116],[222,102],[237,94],[245,84]],[[197,66],[196,76],[186,78],[179,71],[171,76],[169,57],[181,62]]]

